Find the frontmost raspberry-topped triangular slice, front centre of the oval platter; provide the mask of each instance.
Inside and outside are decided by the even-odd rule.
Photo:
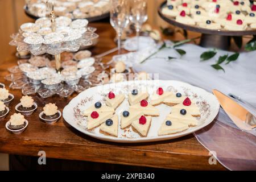
[[[133,130],[137,132],[141,137],[147,137],[148,130],[151,126],[151,117],[142,115],[139,119],[136,119],[131,123]]]

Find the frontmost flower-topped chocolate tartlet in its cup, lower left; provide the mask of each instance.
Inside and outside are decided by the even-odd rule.
[[[6,123],[5,127],[11,133],[20,134],[26,129],[27,125],[28,121],[24,118],[24,115],[14,113],[11,115],[11,118]]]

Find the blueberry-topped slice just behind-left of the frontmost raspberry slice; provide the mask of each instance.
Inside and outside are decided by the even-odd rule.
[[[121,129],[125,129],[126,127],[131,125],[135,119],[139,119],[143,113],[138,110],[134,111],[123,111],[121,114]]]

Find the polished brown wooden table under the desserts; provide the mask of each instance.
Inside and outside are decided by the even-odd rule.
[[[113,42],[115,32],[109,24],[97,23],[92,26],[98,28],[97,33],[100,35],[100,41],[91,50],[93,55],[116,46]],[[10,56],[10,59],[2,63],[0,67],[0,82],[5,85],[9,85],[9,82],[3,78],[9,74],[7,68],[15,65],[17,60],[14,53],[10,52]],[[110,59],[111,56],[106,56],[104,59]],[[54,125],[47,125],[39,120],[39,113],[45,104],[55,102],[62,111],[74,96],[67,99],[59,96],[47,99],[33,96],[38,109],[34,114],[26,117],[29,121],[27,129],[20,135],[11,134],[5,129],[5,123],[10,115],[15,113],[14,107],[19,103],[22,93],[21,90],[10,90],[10,93],[14,94],[15,99],[9,106],[10,113],[4,121],[0,122],[0,152],[2,153],[38,156],[38,152],[43,150],[48,158],[57,159],[171,169],[225,169],[219,163],[216,165],[208,163],[209,152],[197,142],[192,134],[164,142],[121,144],[88,137],[73,129],[63,119]]]

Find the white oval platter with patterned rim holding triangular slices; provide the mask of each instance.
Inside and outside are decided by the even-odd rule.
[[[130,93],[134,88],[137,88],[138,90],[146,88],[148,93],[152,94],[159,87],[162,87],[163,90],[172,91],[174,93],[180,92],[181,94],[191,98],[191,100],[200,107],[201,117],[197,118],[199,119],[199,125],[196,127],[190,127],[188,130],[180,133],[158,136],[158,129],[160,125],[164,122],[166,115],[171,111],[170,106],[161,104],[156,106],[160,110],[160,116],[152,117],[151,127],[148,131],[147,137],[140,137],[139,134],[135,133],[131,128],[122,130],[120,128],[120,115],[123,110],[129,109],[129,103],[127,101],[128,93]],[[101,101],[104,103],[105,97],[110,91],[115,94],[125,93],[126,95],[125,101],[123,101],[115,110],[115,114],[118,114],[119,116],[118,137],[101,134],[98,128],[88,131],[86,129],[86,117],[82,116],[83,111],[89,106],[92,106],[95,102]],[[81,92],[77,97],[73,98],[67,106],[65,106],[63,110],[63,118],[76,130],[79,130],[81,133],[93,138],[119,143],[140,143],[169,140],[191,134],[209,125],[209,123],[212,122],[218,114],[219,108],[220,105],[213,94],[196,86],[173,80],[136,80],[95,86]]]

